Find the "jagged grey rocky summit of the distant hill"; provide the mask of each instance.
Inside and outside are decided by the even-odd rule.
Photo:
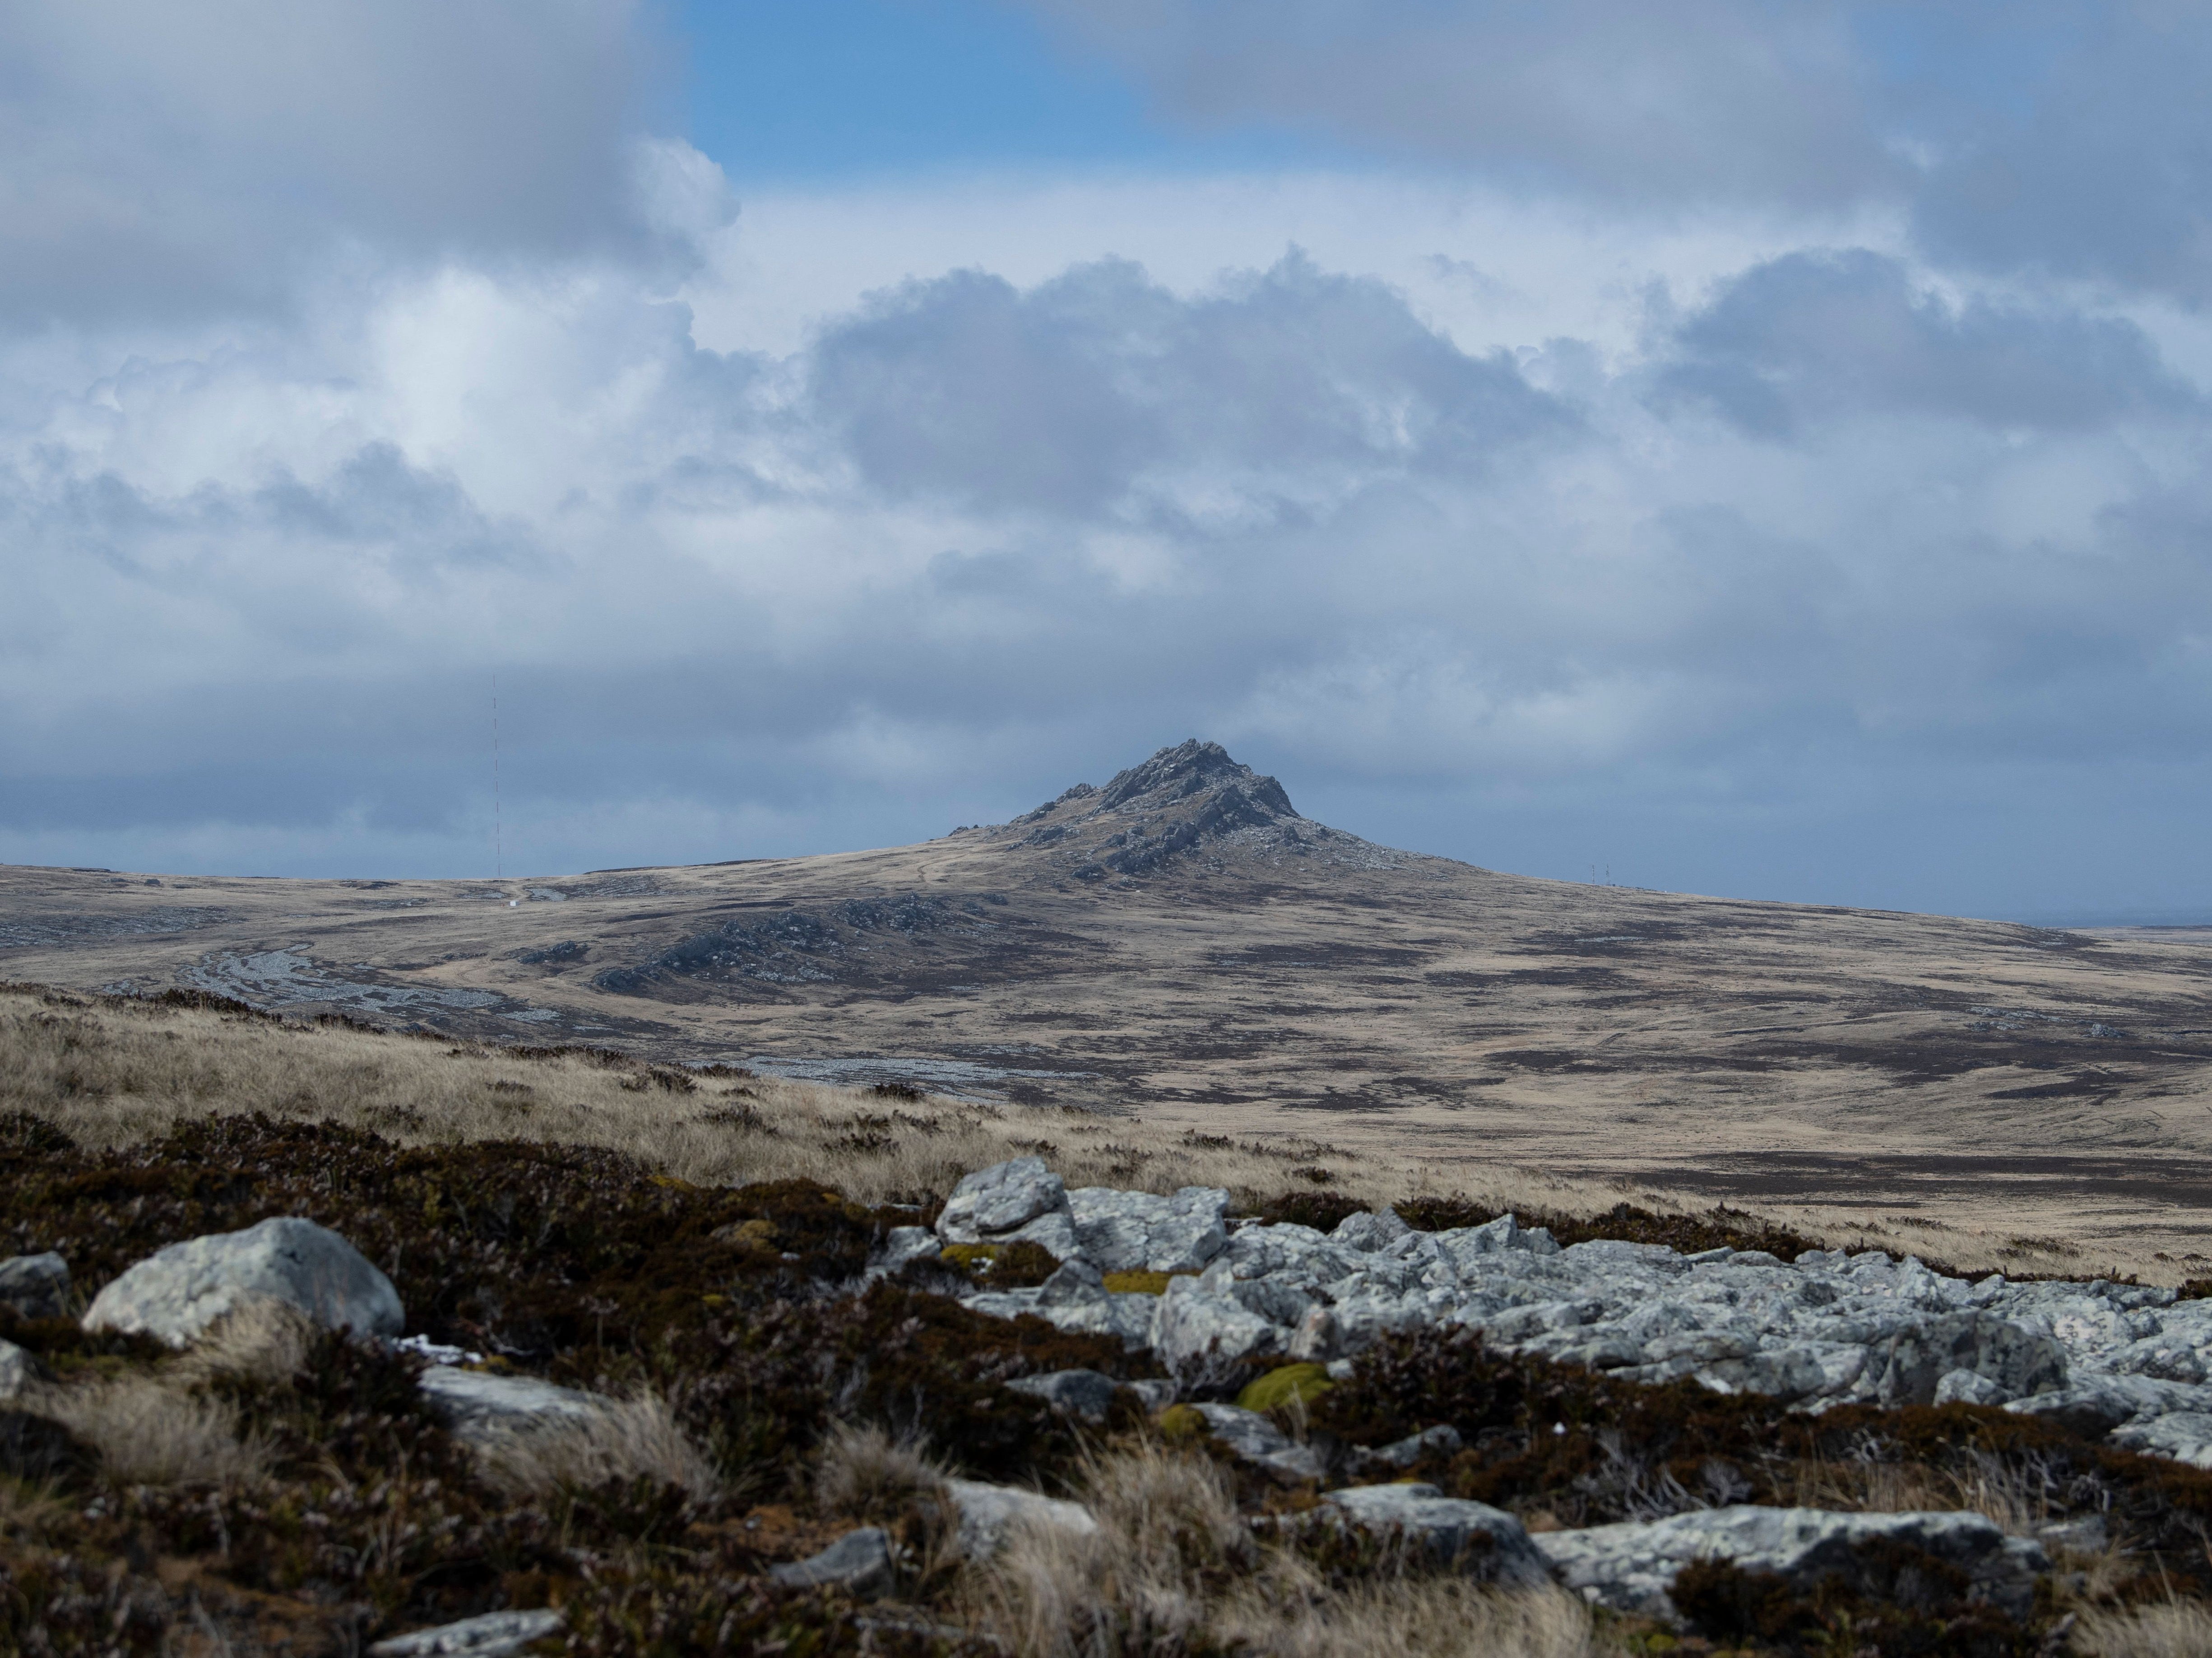
[[[1026,830],[1020,846],[1064,846],[1079,854],[1071,870],[1079,881],[1146,874],[1181,852],[1232,837],[1281,848],[1329,837],[1321,823],[1298,817],[1274,777],[1261,777],[1221,744],[1197,737],[1115,773],[1106,788],[1075,784],[1022,812],[1006,830]]]

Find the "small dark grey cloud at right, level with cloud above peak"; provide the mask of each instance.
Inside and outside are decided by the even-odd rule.
[[[1661,398],[1703,401],[1770,438],[1854,414],[1936,414],[2081,432],[2199,407],[2141,328],[1916,286],[1865,248],[1756,266],[1672,330]]]

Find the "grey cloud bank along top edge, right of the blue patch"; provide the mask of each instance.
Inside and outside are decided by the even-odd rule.
[[[1186,124],[1650,221],[1891,213],[1947,266],[2212,297],[2212,40],[2170,0],[1026,4]]]

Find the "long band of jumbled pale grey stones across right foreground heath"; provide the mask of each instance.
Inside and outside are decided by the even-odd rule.
[[[938,1224],[947,1240],[1042,1237],[1046,1220],[1064,1222],[1064,1235],[1048,1229],[1062,1266],[1046,1284],[978,1291],[967,1306],[1119,1335],[1186,1390],[1292,1359],[1343,1366],[1389,1330],[1453,1324],[1502,1353],[1628,1381],[1692,1377],[1803,1410],[2004,1406],[2212,1468],[2212,1299],[2168,1288],[1966,1282],[1880,1251],[1781,1262],[1621,1240],[1562,1248],[1513,1215],[1422,1233],[1396,1213],[1363,1213],[1321,1233],[1228,1222],[1228,1193],[1201,1186],[1062,1191],[1037,1158],[960,1184],[969,1198]],[[1106,1286],[1139,1264],[1183,1275],[1161,1295]]]

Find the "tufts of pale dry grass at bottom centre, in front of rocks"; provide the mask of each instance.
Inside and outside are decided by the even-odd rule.
[[[1093,1536],[1029,1527],[973,1574],[969,1616],[1024,1658],[1188,1645],[1283,1658],[1599,1658],[1617,1651],[1575,1596],[1394,1578],[1332,1592],[1254,1543],[1223,1470],[1157,1443],[1091,1463]]]

